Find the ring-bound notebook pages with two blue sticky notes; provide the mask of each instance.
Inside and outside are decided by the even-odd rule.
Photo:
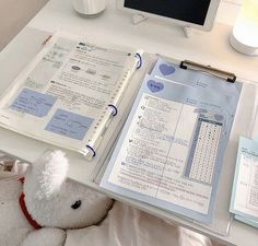
[[[136,54],[55,34],[1,96],[0,125],[94,155],[136,71]]]

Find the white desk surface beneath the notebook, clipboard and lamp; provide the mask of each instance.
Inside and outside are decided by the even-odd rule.
[[[179,60],[190,59],[209,63],[224,70],[234,71],[241,78],[258,81],[258,58],[245,57],[232,49],[228,44],[230,26],[216,24],[211,33],[195,31],[192,37],[187,39],[180,28],[172,27],[169,24],[150,20],[140,25],[132,25],[129,15],[115,10],[114,2],[115,0],[109,0],[106,11],[99,17],[85,20],[72,10],[70,0],[50,0],[1,51],[0,93],[40,49],[42,42],[48,33],[57,30],[85,35],[91,39],[105,39],[108,43],[141,47],[148,52],[163,54]],[[119,118],[116,120],[119,121]],[[106,141],[108,138],[110,138],[110,133],[106,136]],[[49,148],[55,147],[0,129],[0,150],[20,159],[33,162],[44,150]],[[91,181],[91,175],[96,161],[99,160],[87,163],[77,153],[68,152],[68,155],[71,160],[69,177],[97,188]],[[223,184],[227,191],[231,189],[231,181],[232,178],[228,178]],[[222,202],[228,204],[228,201],[230,197]],[[137,203],[137,206],[141,207],[141,203]],[[169,219],[179,225],[208,234],[228,245],[256,246],[258,242],[258,230],[236,221],[232,224],[231,234],[221,236],[173,214],[160,210],[153,210],[153,213]]]

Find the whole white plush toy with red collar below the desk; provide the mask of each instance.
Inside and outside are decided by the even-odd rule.
[[[66,229],[102,221],[113,200],[67,179],[61,151],[46,152],[26,172],[24,183],[0,181],[0,245],[61,246]]]

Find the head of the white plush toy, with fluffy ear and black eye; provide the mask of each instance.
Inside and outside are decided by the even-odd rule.
[[[47,151],[27,169],[23,192],[27,212],[40,226],[80,229],[99,222],[113,200],[67,178],[68,159]]]

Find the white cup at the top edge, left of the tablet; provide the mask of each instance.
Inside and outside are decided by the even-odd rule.
[[[72,5],[80,14],[91,16],[105,10],[106,0],[72,0]]]

